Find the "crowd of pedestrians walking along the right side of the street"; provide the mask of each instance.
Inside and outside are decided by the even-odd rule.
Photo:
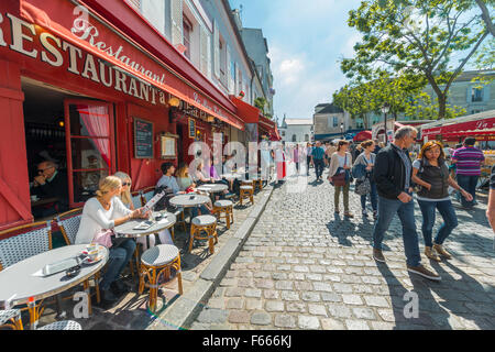
[[[373,258],[376,262],[386,262],[382,249],[383,239],[397,215],[403,227],[407,270],[429,279],[440,280],[437,273],[421,264],[414,198],[422,215],[425,255],[436,262],[440,262],[441,257],[451,258],[452,255],[444,248],[449,235],[458,227],[451,193],[455,193],[461,208],[465,210],[477,205],[476,185],[484,154],[474,146],[473,138],[466,138],[463,144],[449,150],[449,155],[446,155],[446,148],[439,141],[429,141],[421,147],[416,145],[417,134],[415,128],[403,127],[395,132],[394,141],[388,145],[372,140],[358,145],[351,145],[344,140],[326,144],[318,141],[315,145],[307,143],[302,153],[297,155],[298,160],[306,156],[307,175],[310,166],[314,166],[317,183],[322,182],[324,167],[328,167],[327,179],[334,187],[336,215],[340,215],[342,194],[343,216],[354,218],[349,207],[350,186],[354,180],[354,191],[361,198],[363,218],[367,217],[366,200],[370,199],[375,220]],[[443,221],[433,239],[437,210]],[[486,216],[495,231],[495,167]]]

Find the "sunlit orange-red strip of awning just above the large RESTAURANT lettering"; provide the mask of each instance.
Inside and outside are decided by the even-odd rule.
[[[187,87],[187,90],[194,90],[193,94],[191,94],[191,91],[183,92],[165,82],[158,82],[158,81],[150,78],[148,76],[144,75],[140,70],[135,70],[135,69],[131,70],[128,66],[123,65],[120,59],[117,59],[116,57],[110,56],[110,55],[106,55],[102,51],[98,50],[95,46],[91,46],[88,42],[82,41],[82,40],[78,38],[77,36],[73,35],[72,32],[67,28],[63,26],[62,24],[59,24],[55,21],[52,21],[45,11],[38,9],[37,7],[33,6],[32,3],[29,3],[25,0],[21,1],[21,15],[24,19],[26,19],[28,21],[30,21],[34,24],[37,24],[37,25],[44,28],[45,30],[48,30],[50,32],[58,35],[66,42],[75,44],[75,45],[84,48],[91,55],[95,55],[96,57],[99,57],[102,61],[108,62],[108,63],[119,67],[119,69],[124,70],[131,77],[138,77],[139,79],[141,79],[163,91],[169,92],[170,95],[186,101],[187,103],[205,111],[206,113],[208,113],[210,116],[216,117],[217,119],[219,119],[223,122],[227,122],[227,123],[235,127],[237,129],[244,130],[243,122],[234,114],[232,114],[228,111],[220,112],[218,109],[217,109],[218,112],[213,111],[213,109],[205,107],[201,103],[201,99],[193,99],[189,97],[189,96],[195,96],[195,92],[196,92],[196,95],[204,97],[202,92],[196,91],[190,87]]]

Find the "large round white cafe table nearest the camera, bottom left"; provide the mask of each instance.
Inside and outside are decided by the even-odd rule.
[[[58,295],[74,286],[84,283],[84,289],[89,289],[88,279],[97,274],[108,261],[109,251],[99,246],[102,258],[94,264],[81,264],[80,272],[74,277],[67,277],[65,271],[50,276],[35,276],[47,264],[53,264],[69,257],[76,257],[86,250],[87,244],[62,246],[52,251],[30,256],[0,272],[0,302],[8,301],[11,307],[24,305],[33,297],[34,307],[30,308],[31,329],[37,324],[40,308],[45,298]],[[37,304],[36,301],[40,300]],[[88,300],[90,302],[90,298]],[[89,314],[91,308],[89,306]]]

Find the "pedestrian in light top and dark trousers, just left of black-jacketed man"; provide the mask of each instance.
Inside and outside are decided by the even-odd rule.
[[[358,165],[363,165],[364,167],[364,180],[363,183],[370,184],[370,191],[367,194],[361,195],[361,209],[363,217],[367,217],[366,212],[366,198],[370,195],[370,201],[372,204],[373,209],[373,219],[377,219],[378,213],[378,193],[376,190],[376,184],[372,179],[373,167],[375,166],[376,154],[373,153],[375,150],[375,142],[372,140],[365,141],[361,143],[361,148],[363,153],[361,153],[354,162],[353,168]],[[358,189],[359,182],[355,183],[355,188]]]

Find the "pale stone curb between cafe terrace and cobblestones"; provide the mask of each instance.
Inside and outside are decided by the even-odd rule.
[[[180,296],[163,315],[158,316],[146,330],[187,330],[207,304],[235,260],[252,230],[266,208],[266,204],[275,189],[274,184],[264,188],[261,201],[253,207],[234,235],[227,241],[211,263],[201,272],[198,280]]]

